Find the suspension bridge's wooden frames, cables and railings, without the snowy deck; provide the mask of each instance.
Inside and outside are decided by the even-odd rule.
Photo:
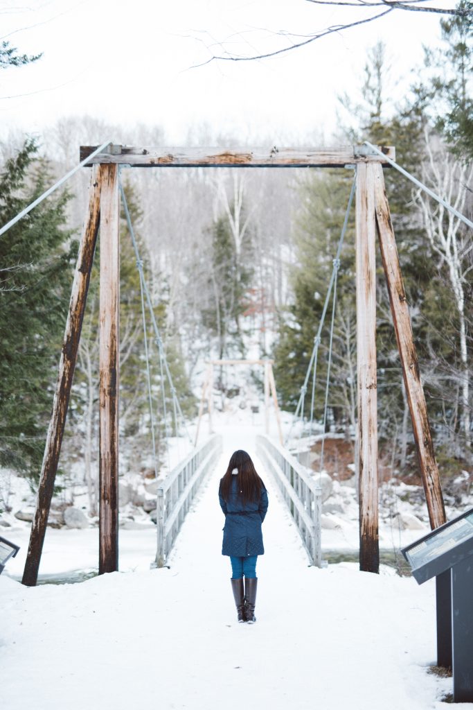
[[[328,344],[328,368],[325,382],[325,408],[323,425],[327,417],[328,388],[330,384],[330,364],[333,347],[333,323],[336,308],[336,286],[340,268],[340,252],[343,247],[352,202],[355,200],[355,246],[356,246],[356,300],[357,300],[357,473],[360,491],[360,569],[377,572],[379,569],[379,532],[378,532],[378,452],[377,452],[377,358],[376,358],[376,263],[375,241],[379,246],[389,291],[391,313],[396,332],[404,386],[408,399],[413,425],[413,435],[418,453],[419,468],[423,479],[430,524],[437,527],[445,523],[445,507],[438,466],[435,461],[433,442],[428,422],[427,408],[423,393],[420,370],[413,342],[411,320],[408,313],[406,293],[399,266],[394,230],[391,223],[389,203],[384,187],[383,168],[393,167],[399,170],[435,200],[444,204],[457,219],[468,226],[469,220],[457,212],[454,207],[422,185],[413,175],[399,166],[392,147],[378,147],[365,142],[363,146],[350,146],[333,150],[296,151],[290,148],[271,151],[260,149],[227,150],[211,148],[166,149],[136,148],[103,143],[101,146],[82,146],[81,162],[69,171],[64,178],[52,185],[43,195],[0,229],[0,236],[31,209],[48,197],[77,170],[92,168],[89,188],[89,205],[84,229],[79,244],[77,266],[69,303],[69,314],[65,328],[57,385],[52,408],[52,417],[45,444],[43,466],[38,488],[38,503],[28,545],[28,555],[23,574],[23,584],[34,585],[38,579],[41,552],[45,537],[48,514],[54,488],[55,475],[60,457],[62,436],[65,429],[69,394],[77,358],[82,320],[87,300],[87,291],[91,277],[91,267],[100,227],[100,305],[99,305],[99,410],[100,410],[100,454],[99,454],[99,574],[118,569],[118,400],[119,400],[119,212],[120,202],[126,215],[128,230],[135,251],[136,266],[140,278],[141,310],[143,315],[145,360],[148,373],[148,398],[150,403],[150,422],[152,432],[152,457],[157,475],[157,454],[155,445],[155,413],[153,412],[152,387],[150,379],[150,359],[148,353],[146,312],[152,324],[152,333],[159,354],[159,367],[163,394],[163,418],[166,435],[168,417],[165,401],[165,381],[172,395],[172,417],[174,430],[184,427],[185,422],[179,397],[172,382],[169,365],[165,356],[155,312],[152,307],[150,291],[143,273],[143,261],[130,219],[125,192],[121,183],[123,169],[137,168],[340,168],[355,173],[347,202],[345,219],[341,227],[338,248],[333,256],[333,271],[328,284],[327,295],[321,320],[313,340],[313,351],[309,359],[304,383],[301,385],[296,417],[304,423],[305,400],[310,391],[309,432],[313,426],[314,398],[316,393],[318,349],[321,333],[332,303],[330,342]],[[247,363],[248,361],[244,361]],[[235,361],[218,364],[236,364]],[[282,429],[279,420],[277,394],[272,376],[271,361],[258,361],[265,368],[265,406],[268,410],[269,397],[272,396],[277,414],[279,439],[282,444]],[[311,383],[311,385],[310,385]],[[203,413],[204,399],[208,402],[208,416],[211,417],[213,400],[213,364],[210,363],[208,376],[204,383],[199,424]],[[267,426],[266,426],[267,429]],[[197,427],[196,442],[199,435]],[[294,474],[294,461],[284,448],[276,452],[274,444],[267,441],[260,444],[266,463],[274,475],[281,481],[282,490],[289,504],[291,514],[301,530],[301,536],[310,552],[314,564],[321,563],[320,557],[320,496],[315,484],[299,466]],[[179,532],[189,505],[207,470],[215,464],[219,452],[216,439],[207,442],[204,447],[196,447],[191,456],[182,465],[172,471],[160,486],[157,496],[158,543],[156,564],[165,564],[167,552]],[[323,468],[323,444],[321,469]],[[305,481],[301,484],[301,481]],[[318,538],[318,540],[316,540]]]

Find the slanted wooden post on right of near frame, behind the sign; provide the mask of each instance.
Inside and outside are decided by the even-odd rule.
[[[388,285],[389,302],[391,303],[394,330],[396,332],[399,356],[401,357],[402,374],[411,413],[412,429],[416,441],[430,527],[433,529],[446,522],[440,476],[438,474],[437,461],[435,461],[406,291],[404,290],[396,239],[394,238],[389,203],[384,187],[383,169],[381,165],[373,165],[372,170],[374,170],[379,246]]]

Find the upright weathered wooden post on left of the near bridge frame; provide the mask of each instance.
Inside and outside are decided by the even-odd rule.
[[[99,574],[118,569],[118,165],[103,165],[100,217]]]

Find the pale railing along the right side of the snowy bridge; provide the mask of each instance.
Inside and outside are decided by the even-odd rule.
[[[294,518],[312,564],[322,566],[322,491],[284,447],[265,436],[256,437],[257,452],[274,476]]]

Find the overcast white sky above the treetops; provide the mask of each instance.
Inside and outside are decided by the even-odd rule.
[[[44,56],[1,72],[0,133],[90,114],[160,124],[175,145],[204,122],[238,134],[241,145],[258,134],[287,143],[321,128],[330,137],[337,94],[360,82],[366,48],[386,43],[402,95],[422,44],[438,42],[438,16],[391,13],[279,58],[191,67],[218,41],[235,54],[262,53],[284,45],[274,32],[307,34],[351,16],[306,0],[1,0],[2,38]]]

